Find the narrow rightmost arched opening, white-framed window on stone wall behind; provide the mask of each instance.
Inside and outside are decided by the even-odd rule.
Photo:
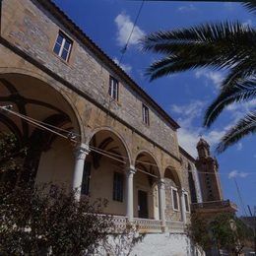
[[[167,167],[164,171],[164,184],[166,221],[181,222],[181,183],[172,167]]]

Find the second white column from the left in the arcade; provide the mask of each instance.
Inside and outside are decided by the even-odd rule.
[[[133,222],[133,176],[136,172],[134,166],[126,170],[126,216],[130,223]]]

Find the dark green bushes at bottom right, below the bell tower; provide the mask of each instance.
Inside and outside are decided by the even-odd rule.
[[[217,246],[232,255],[241,253],[253,239],[253,231],[231,214],[218,214],[211,219],[192,214],[188,235],[204,250]]]

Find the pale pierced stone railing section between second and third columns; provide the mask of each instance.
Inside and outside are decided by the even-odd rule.
[[[162,231],[161,222],[158,220],[134,218],[133,224],[138,226],[139,232],[159,233]]]

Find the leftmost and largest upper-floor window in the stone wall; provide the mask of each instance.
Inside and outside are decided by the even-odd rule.
[[[72,40],[63,32],[59,32],[53,51],[65,61],[68,61],[72,47]]]

